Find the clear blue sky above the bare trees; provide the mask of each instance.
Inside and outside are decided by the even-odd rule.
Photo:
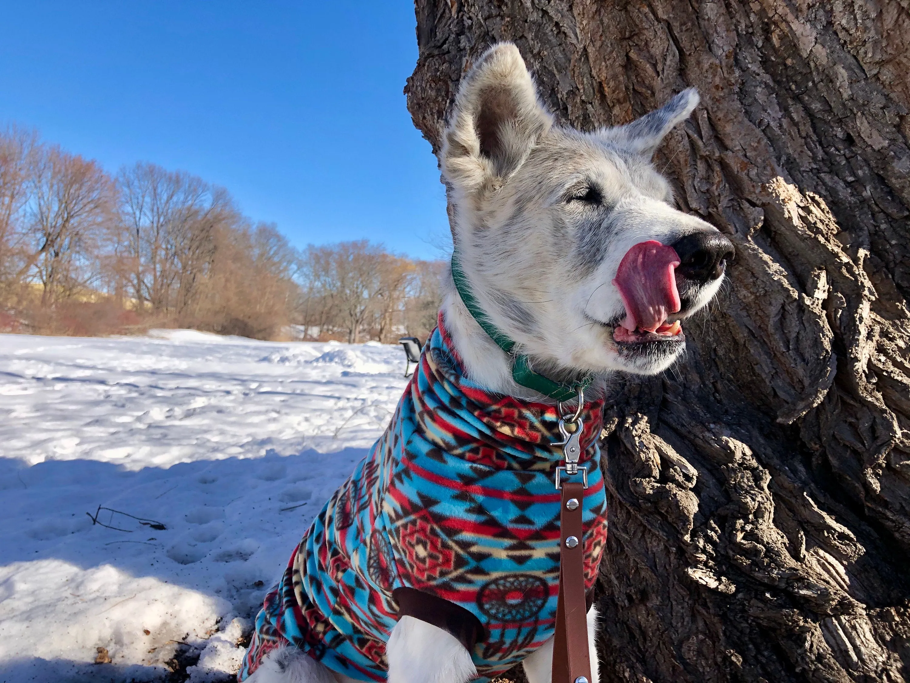
[[[408,0],[6,0],[0,125],[111,172],[187,170],[300,247],[437,258],[445,193],[401,92],[414,25]]]

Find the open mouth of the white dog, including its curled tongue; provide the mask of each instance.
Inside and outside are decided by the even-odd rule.
[[[685,341],[680,321],[667,320],[682,308],[676,289],[679,264],[676,251],[656,240],[626,252],[613,280],[625,306],[625,317],[612,326],[613,342],[621,348],[647,345],[654,350],[659,347],[653,344],[669,344],[675,350]]]

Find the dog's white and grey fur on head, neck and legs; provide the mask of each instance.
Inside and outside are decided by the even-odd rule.
[[[541,105],[518,49],[490,48],[460,86],[445,131],[442,170],[454,208],[455,249],[471,291],[490,320],[553,379],[589,372],[653,374],[684,344],[635,352],[613,342],[624,308],[612,286],[623,255],[645,240],[672,244],[704,221],[672,209],[651,157],[662,138],[698,104],[685,90],[661,109],[591,133],[557,127]],[[682,311],[711,301],[721,280],[678,280]],[[513,382],[511,358],[470,316],[449,277],[443,314],[465,372],[493,392],[541,396]],[[591,663],[596,672],[591,622]],[[390,683],[464,683],[476,675],[470,654],[446,631],[402,617],[387,645]],[[548,683],[551,642],[524,662],[531,683]],[[330,683],[318,662],[291,648],[270,655],[251,683]]]

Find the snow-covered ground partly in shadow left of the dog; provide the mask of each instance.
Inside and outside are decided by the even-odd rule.
[[[375,342],[0,335],[0,681],[235,672],[403,370]]]

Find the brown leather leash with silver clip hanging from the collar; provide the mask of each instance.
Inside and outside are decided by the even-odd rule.
[[[559,405],[561,445],[565,464],[556,469],[556,488],[561,489],[560,512],[560,593],[556,607],[556,633],[553,636],[552,683],[590,683],[591,658],[588,651],[588,618],[584,596],[584,490],[588,470],[579,466],[581,457],[581,408],[584,392],[578,391],[578,409],[573,416],[562,414]],[[562,481],[581,474],[581,482]]]

